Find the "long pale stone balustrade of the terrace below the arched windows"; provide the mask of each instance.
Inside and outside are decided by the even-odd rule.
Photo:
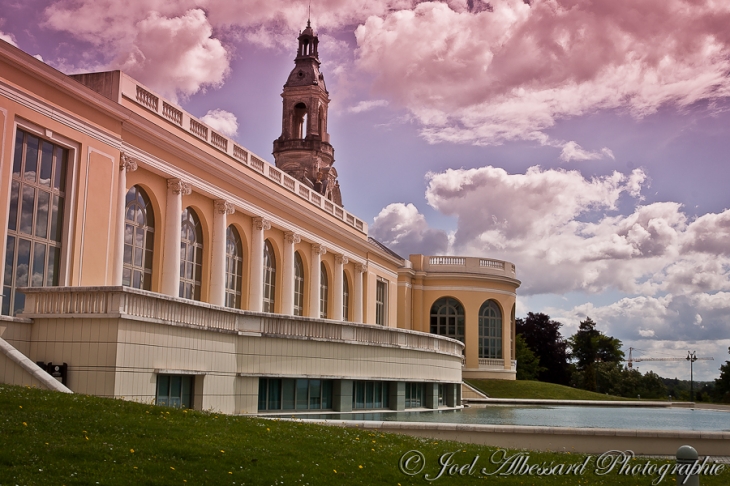
[[[417,331],[229,309],[129,287],[19,290],[26,295],[23,318],[120,317],[220,332],[397,347],[451,356],[461,356],[464,348],[454,339]]]

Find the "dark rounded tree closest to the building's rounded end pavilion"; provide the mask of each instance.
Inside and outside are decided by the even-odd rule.
[[[570,373],[567,344],[560,334],[562,324],[547,314],[528,312],[525,319],[516,320],[516,326],[517,333],[522,334],[527,346],[540,360],[539,380],[567,385]]]

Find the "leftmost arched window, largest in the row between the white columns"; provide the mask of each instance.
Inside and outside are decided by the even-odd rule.
[[[124,212],[124,270],[122,285],[152,288],[152,250],[155,246],[155,215],[150,198],[139,186],[127,192]]]

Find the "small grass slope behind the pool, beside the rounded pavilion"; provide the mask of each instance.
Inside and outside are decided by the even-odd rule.
[[[628,400],[570,386],[529,380],[464,380],[491,398],[533,398],[549,400]]]

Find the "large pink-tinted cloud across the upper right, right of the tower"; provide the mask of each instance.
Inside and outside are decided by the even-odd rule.
[[[557,119],[730,95],[730,5],[711,0],[440,2],[370,17],[358,65],[430,141],[545,142]]]

